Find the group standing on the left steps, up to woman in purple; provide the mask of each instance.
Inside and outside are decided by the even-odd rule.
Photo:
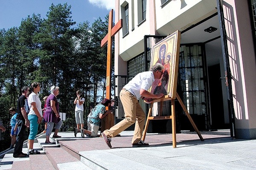
[[[21,89],[22,95],[17,101],[17,113],[15,108],[11,108],[9,113],[12,114],[11,119],[11,147],[14,147],[13,157],[20,158],[32,154],[40,154],[39,151],[33,148],[35,136],[38,133],[38,126],[44,120],[46,130],[45,144],[50,144],[49,136],[55,125],[55,132],[53,138],[60,138],[58,130],[61,128],[62,120],[59,116],[59,105],[56,96],[59,94],[59,87],[52,86],[50,88],[51,94],[45,99],[44,108],[41,109],[41,100],[38,92],[40,91],[40,83],[33,82],[30,87],[23,87]],[[44,115],[43,115],[44,112]],[[44,118],[43,118],[44,116]],[[1,126],[1,132],[5,131]],[[29,128],[28,137],[28,153],[22,152],[23,142],[26,139],[26,128]],[[15,144],[15,146],[14,146]]]

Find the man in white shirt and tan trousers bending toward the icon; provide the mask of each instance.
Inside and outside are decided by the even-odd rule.
[[[145,123],[145,113],[138,100],[141,98],[145,102],[152,102],[152,98],[160,98],[163,94],[152,94],[148,92],[155,79],[160,79],[163,75],[163,65],[157,63],[152,66],[151,71],[145,71],[137,74],[120,91],[120,99],[125,112],[125,119],[102,132],[102,137],[108,147],[111,146],[111,138],[127,129],[135,123],[134,136],[131,141],[132,146],[148,146],[141,140],[143,127]]]

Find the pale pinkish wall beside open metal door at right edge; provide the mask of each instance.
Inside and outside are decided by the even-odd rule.
[[[256,138],[256,61],[247,2],[223,1],[236,135]],[[247,19],[245,19],[247,18]]]

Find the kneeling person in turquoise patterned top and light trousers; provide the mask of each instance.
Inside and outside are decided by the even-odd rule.
[[[104,118],[107,114],[111,113],[111,111],[105,111],[106,107],[110,107],[111,100],[104,99],[101,103],[95,106],[92,109],[90,114],[88,115],[87,125],[88,130],[81,129],[81,136],[84,138],[84,134],[89,137],[97,137],[99,131],[99,124],[102,118]]]

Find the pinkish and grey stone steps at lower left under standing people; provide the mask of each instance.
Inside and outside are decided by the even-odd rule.
[[[33,148],[41,152],[38,155],[29,155],[23,158],[13,158],[13,150],[8,150],[0,162],[0,170],[91,170],[80,161],[79,153],[67,146],[62,146],[50,137],[52,144],[45,144],[45,134],[35,139]],[[23,144],[23,153],[28,152],[28,143]]]

